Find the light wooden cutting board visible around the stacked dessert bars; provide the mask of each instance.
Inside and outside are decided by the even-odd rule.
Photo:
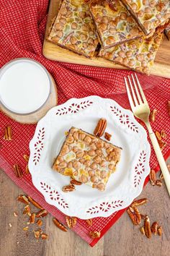
[[[45,38],[50,33],[50,27],[58,14],[60,0],[50,0],[50,7],[48,12],[48,22],[45,30]],[[107,61],[106,59],[102,59],[99,57],[94,57],[92,59],[88,59],[84,56],[80,56],[78,54],[74,54],[72,51],[68,51],[60,46],[55,45],[54,43],[48,42],[48,40],[44,40],[42,54],[47,59],[52,59],[55,61],[63,61],[73,64],[83,64],[94,67],[109,67],[113,69],[125,69],[120,65],[114,64],[111,61]],[[156,55],[155,64],[151,69],[151,74],[170,78],[170,41],[164,37],[164,41],[161,43],[161,47],[158,49],[158,53]]]

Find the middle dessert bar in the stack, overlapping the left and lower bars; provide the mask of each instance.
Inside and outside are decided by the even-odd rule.
[[[143,35],[120,1],[94,0],[89,7],[103,48],[110,48]]]

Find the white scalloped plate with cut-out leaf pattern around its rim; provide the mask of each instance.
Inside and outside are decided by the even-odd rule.
[[[86,184],[76,191],[63,192],[69,177],[53,171],[51,166],[72,126],[93,133],[100,118],[107,119],[110,142],[122,148],[117,171],[112,174],[104,192]],[[145,129],[135,120],[133,113],[115,101],[97,96],[72,98],[56,106],[37,124],[30,142],[29,169],[32,182],[50,205],[55,205],[68,216],[82,219],[107,217],[126,208],[140,195],[148,176],[151,148]]]

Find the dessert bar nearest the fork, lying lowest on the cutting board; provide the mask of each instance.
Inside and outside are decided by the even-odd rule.
[[[163,37],[157,30],[150,38],[139,38],[120,46],[101,49],[99,56],[124,67],[149,74]]]

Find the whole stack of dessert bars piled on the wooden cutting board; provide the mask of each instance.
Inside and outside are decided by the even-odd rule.
[[[63,0],[48,40],[149,74],[169,18],[169,0]]]

